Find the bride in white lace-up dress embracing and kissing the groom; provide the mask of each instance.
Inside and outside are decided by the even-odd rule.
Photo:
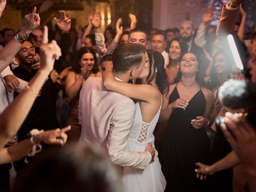
[[[162,94],[169,91],[163,56],[159,52],[147,50],[146,63],[140,79],[136,80],[137,84],[116,80],[112,67],[107,66],[102,76],[104,86],[110,91],[138,100],[126,149],[144,151],[149,142],[154,147],[153,131],[161,110]],[[166,180],[161,171],[158,152],[154,162],[145,170],[123,167],[122,184],[125,192],[163,192]]]

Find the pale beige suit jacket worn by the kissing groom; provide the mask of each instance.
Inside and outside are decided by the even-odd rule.
[[[82,132],[78,144],[101,148],[115,165],[144,170],[151,154],[125,149],[135,111],[134,102],[106,90],[102,78],[88,78],[80,92],[78,118]]]

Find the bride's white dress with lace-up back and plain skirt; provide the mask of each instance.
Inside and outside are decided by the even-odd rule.
[[[144,151],[149,142],[154,146],[153,131],[158,122],[160,109],[151,122],[142,121],[140,102],[136,103],[136,114],[126,149],[129,151]],[[131,167],[122,167],[122,184],[124,192],[163,192],[166,187],[166,180],[161,171],[158,159],[158,152],[154,162],[150,163],[145,170]]]

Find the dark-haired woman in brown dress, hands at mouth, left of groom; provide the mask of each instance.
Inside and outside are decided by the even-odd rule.
[[[92,48],[82,47],[77,55],[74,71],[68,74],[65,81],[66,95],[71,100],[67,122],[68,125],[71,125],[68,141],[74,142],[78,142],[81,134],[81,125],[78,122],[80,90],[88,77],[101,77],[97,58]]]

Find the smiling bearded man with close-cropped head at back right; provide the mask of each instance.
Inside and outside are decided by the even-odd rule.
[[[202,48],[198,47],[194,42],[194,34],[195,30],[193,27],[193,23],[191,21],[184,21],[180,27],[180,36],[181,38],[187,42],[188,51],[196,54],[196,56],[201,56],[204,54]]]

